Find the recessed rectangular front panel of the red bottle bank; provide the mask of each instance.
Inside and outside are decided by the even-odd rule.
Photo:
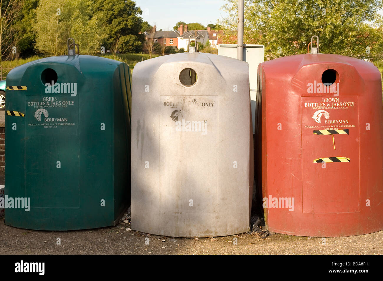
[[[301,120],[303,213],[360,211],[358,97],[301,97]]]

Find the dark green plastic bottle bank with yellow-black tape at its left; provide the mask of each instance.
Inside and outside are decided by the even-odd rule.
[[[116,224],[130,200],[130,75],[126,63],[87,55],[43,58],[10,71],[5,195],[13,204],[5,224],[39,230]],[[28,211],[21,205],[29,200]]]

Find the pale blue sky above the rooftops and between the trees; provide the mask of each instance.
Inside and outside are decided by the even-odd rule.
[[[157,30],[172,30],[178,21],[206,26],[226,16],[220,10],[224,0],[133,0],[141,7],[141,17]]]

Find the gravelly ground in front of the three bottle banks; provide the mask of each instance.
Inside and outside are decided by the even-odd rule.
[[[240,234],[215,238],[162,237],[132,231],[129,223],[81,231],[34,231],[0,220],[0,254],[383,254],[383,231],[361,236],[322,238]],[[128,229],[128,231],[127,231]],[[61,245],[57,245],[57,238]],[[149,245],[145,244],[149,238]],[[237,244],[234,244],[235,239]],[[162,242],[165,240],[165,242]]]

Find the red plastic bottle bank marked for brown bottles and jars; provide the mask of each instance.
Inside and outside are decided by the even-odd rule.
[[[332,93],[326,86],[322,93],[327,69],[337,71]],[[268,229],[315,237],[382,230],[378,69],[356,58],[304,54],[261,63],[258,75],[255,159]]]

